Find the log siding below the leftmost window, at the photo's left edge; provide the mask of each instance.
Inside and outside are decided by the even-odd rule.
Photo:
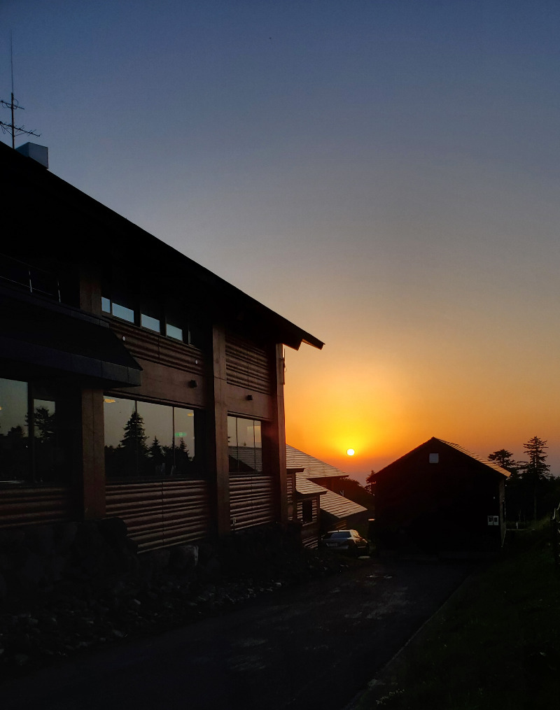
[[[44,525],[75,517],[69,488],[3,488],[0,493],[0,528]]]

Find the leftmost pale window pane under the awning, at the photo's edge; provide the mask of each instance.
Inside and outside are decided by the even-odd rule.
[[[0,481],[31,477],[27,383],[0,378]]]

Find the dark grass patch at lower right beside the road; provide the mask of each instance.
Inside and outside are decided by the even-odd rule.
[[[560,703],[560,575],[542,525],[470,577],[357,710],[534,710]]]

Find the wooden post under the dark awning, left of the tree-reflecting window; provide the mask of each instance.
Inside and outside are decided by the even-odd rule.
[[[103,393],[82,391],[82,512],[85,520],[105,515]]]

